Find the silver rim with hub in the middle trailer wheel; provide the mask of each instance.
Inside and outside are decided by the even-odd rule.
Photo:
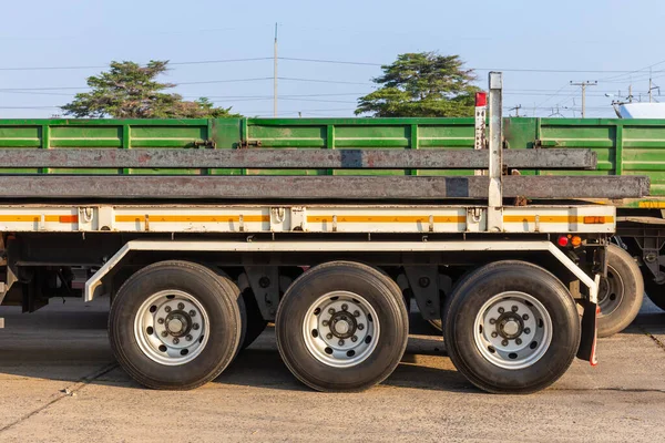
[[[334,291],[319,297],[307,310],[303,338],[309,352],[334,368],[360,364],[379,340],[377,311],[354,292]]]

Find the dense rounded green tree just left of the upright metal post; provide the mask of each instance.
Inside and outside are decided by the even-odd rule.
[[[459,55],[434,52],[407,53],[382,65],[383,75],[372,79],[381,86],[358,99],[358,114],[375,117],[472,116],[474,94],[480,91],[473,70]]]

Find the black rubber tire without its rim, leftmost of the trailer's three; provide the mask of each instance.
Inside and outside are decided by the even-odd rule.
[[[194,360],[164,365],[150,359],[136,343],[134,318],[153,293],[180,289],[198,300],[208,315],[211,339]],[[242,336],[237,293],[208,268],[170,260],[135,272],[117,291],[109,317],[111,349],[121,367],[139,383],[152,389],[188,390],[215,379],[234,359]]]

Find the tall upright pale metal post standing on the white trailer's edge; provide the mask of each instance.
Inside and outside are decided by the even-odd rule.
[[[490,176],[490,188],[488,193],[488,231],[499,233],[503,230],[503,188],[501,183],[503,164],[503,119],[502,119],[502,89],[503,76],[501,72],[490,72],[490,134],[489,155],[490,162],[488,174]]]

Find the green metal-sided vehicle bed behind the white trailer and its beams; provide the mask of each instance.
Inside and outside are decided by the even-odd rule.
[[[1,120],[0,148],[117,150],[473,150],[473,119],[219,119],[219,120]],[[642,265],[647,292],[665,308],[665,120],[504,119],[507,150],[590,148],[593,171],[519,169],[521,175],[648,176],[648,197],[620,207],[617,241]],[[103,175],[439,175],[460,169],[74,168],[8,167],[0,174]],[[249,165],[250,166],[250,165]],[[515,171],[511,173],[516,173]],[[608,293],[608,297],[612,296]]]

